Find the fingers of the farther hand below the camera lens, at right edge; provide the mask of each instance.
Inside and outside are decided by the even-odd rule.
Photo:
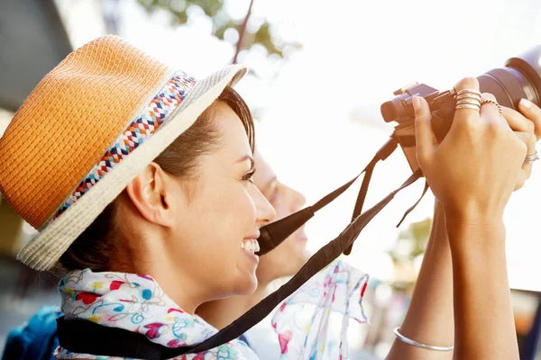
[[[527,145],[527,155],[536,153],[536,142],[541,139],[541,109],[535,104],[522,99],[517,112],[507,107],[503,108],[503,116],[519,139]],[[522,113],[521,113],[522,112]],[[532,162],[525,162],[518,173],[515,190],[518,190],[532,175]]]

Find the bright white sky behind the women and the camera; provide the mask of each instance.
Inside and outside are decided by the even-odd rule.
[[[96,19],[96,3],[57,0],[78,47],[104,33]],[[120,34],[152,55],[197,77],[227,64],[233,45],[209,35],[204,17],[172,28],[166,14],[149,16],[134,0],[121,3]],[[228,1],[241,18],[249,0]],[[536,0],[371,1],[255,0],[253,21],[267,17],[280,35],[299,40],[303,48],[280,67],[278,76],[261,84],[244,79],[238,90],[259,112],[257,142],[280,179],[316,202],[357,175],[389,138],[393,126],[379,115],[381,103],[394,90],[413,82],[451,88],[463,76],[478,76],[501,67],[509,57],[541,39],[541,4]],[[257,52],[242,58],[261,65]],[[410,175],[397,150],[376,167],[367,204],[379,201]],[[541,238],[536,224],[541,208],[538,163],[524,189],[511,198],[508,229],[509,282],[512,287],[541,291]],[[417,201],[423,184],[400,193],[364,229],[346,260],[382,280],[392,277],[385,253],[399,234],[395,225]],[[358,189],[358,186],[357,186]],[[355,191],[324,211],[307,226],[315,251],[335,238],[349,222]],[[428,194],[408,222],[432,214]]]

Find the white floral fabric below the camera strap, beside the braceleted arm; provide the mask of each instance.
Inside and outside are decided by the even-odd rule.
[[[280,359],[349,359],[349,322],[367,322],[362,296],[368,280],[368,275],[336,260],[282,302],[271,321]]]

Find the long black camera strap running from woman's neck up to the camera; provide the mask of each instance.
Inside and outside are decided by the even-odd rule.
[[[391,138],[390,141],[378,151],[378,154],[371,160],[371,163],[363,170],[362,173],[366,174],[363,184],[366,182],[366,185],[362,186],[357,203],[359,203],[359,199],[362,199],[362,202],[364,202],[368,190],[368,182],[370,182],[374,166],[378,161],[389,157],[390,153],[392,153],[395,148],[397,148],[397,143]],[[313,206],[298,211],[283,220],[276,221],[265,228],[262,228],[261,235],[265,234],[262,238],[264,252],[260,252],[259,254],[262,255],[280,245],[285,238],[288,238],[291,233],[314,216],[316,211],[335,200],[341,193],[344,193],[344,191],[349,188],[360,175],[355,176],[353,180],[339,187],[334,192],[327,194]],[[163,347],[151,342],[151,340],[142,334],[124,329],[105,327],[87,320],[65,320],[64,317],[62,317],[57,320],[60,346],[74,353],[92,354],[96,356],[169,359],[175,356],[203,352],[225,344],[235,338],[239,338],[244,332],[251,329],[255,324],[259,323],[271,313],[280,302],[284,301],[292,293],[295,293],[295,291],[305,284],[312,276],[331,264],[337,257],[344,253],[346,249],[351,248],[353,241],[359,236],[362,229],[364,229],[374,216],[376,216],[381,209],[383,209],[394,196],[399,193],[399,191],[408,187],[410,184],[415,183],[421,176],[422,172],[417,170],[413,175],[409,176],[404,184],[387,195],[381,202],[378,202],[369,210],[355,217],[338,237],[327,243],[324,247],[320,248],[316,254],[310,257],[307,264],[303,266],[298,271],[297,275],[293,276],[288,283],[282,285],[276,292],[271,293],[271,295],[255,305],[250,311],[244,313],[239,319],[234,320],[234,322],[225,329],[220,330],[214,336],[206,339],[200,344],[189,347]],[[367,178],[368,180],[366,180]]]

